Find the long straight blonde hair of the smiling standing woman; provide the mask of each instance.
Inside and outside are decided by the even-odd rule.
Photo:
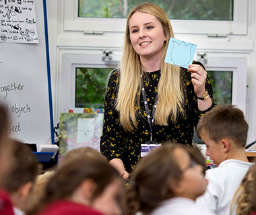
[[[135,107],[139,107],[139,95],[141,91],[141,62],[139,54],[135,52],[130,40],[129,20],[136,11],[154,15],[162,24],[166,42],[161,62],[161,77],[158,83],[158,106],[156,107],[155,124],[168,126],[171,116],[172,122],[176,122],[179,112],[183,113],[183,91],[181,90],[181,68],[164,62],[170,37],[174,38],[172,26],[164,10],[152,3],[143,3],[134,7],[128,17],[125,32],[125,46],[121,60],[119,73],[119,91],[117,95],[116,109],[120,114],[120,122],[127,131],[137,128]]]

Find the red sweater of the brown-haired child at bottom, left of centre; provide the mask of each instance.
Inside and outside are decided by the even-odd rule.
[[[102,213],[75,202],[58,200],[47,205],[37,215],[103,215]]]

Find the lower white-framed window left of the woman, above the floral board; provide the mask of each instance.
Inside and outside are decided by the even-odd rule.
[[[102,60],[103,54],[63,54],[59,85],[59,111],[74,107],[103,107],[107,77],[117,68],[118,54]],[[59,114],[59,113],[57,113]]]

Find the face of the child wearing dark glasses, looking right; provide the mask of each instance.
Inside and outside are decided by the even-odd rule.
[[[203,175],[203,167],[193,160],[191,161],[189,154],[183,148],[175,149],[174,156],[182,171],[181,180],[177,181],[174,193],[177,197],[195,200],[205,192],[207,187],[207,179]]]

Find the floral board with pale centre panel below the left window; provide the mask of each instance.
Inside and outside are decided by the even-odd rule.
[[[81,108],[82,109],[82,108]],[[84,110],[89,110],[84,108]],[[90,112],[61,113],[59,119],[59,162],[72,149],[90,147],[100,150],[100,136],[102,134],[102,110]]]

